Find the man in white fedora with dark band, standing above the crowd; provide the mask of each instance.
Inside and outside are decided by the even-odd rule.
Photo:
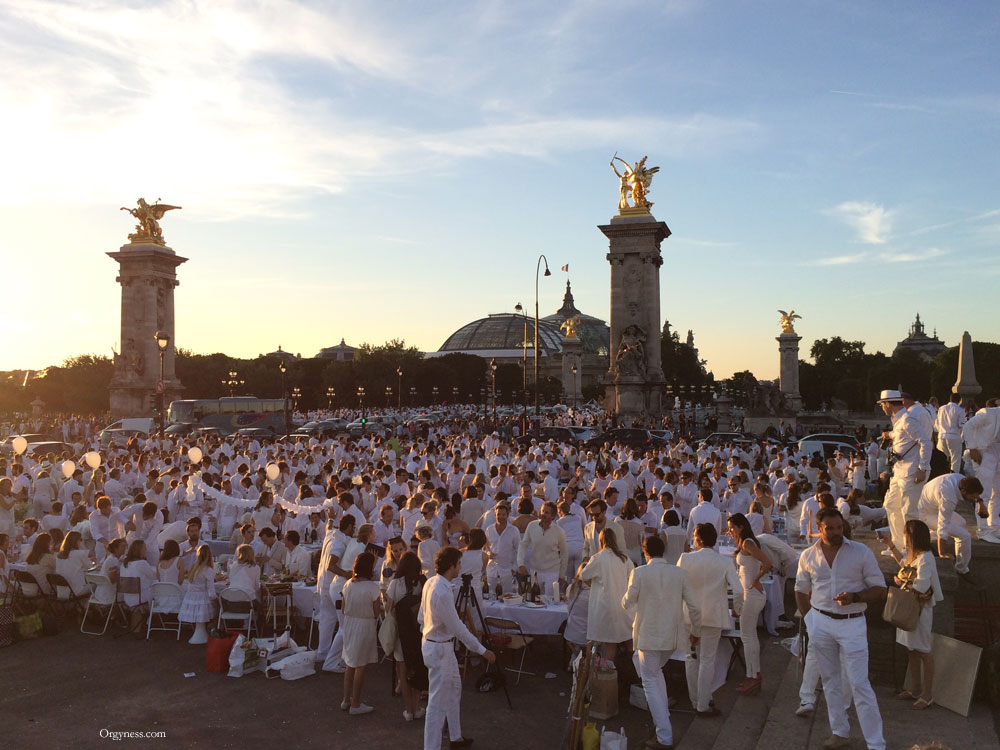
[[[882,434],[883,438],[892,439],[892,479],[883,507],[892,542],[902,549],[903,527],[907,521],[920,517],[920,491],[931,465],[931,435],[923,421],[903,406],[903,394],[899,391],[882,391],[878,403],[892,420],[892,431]]]

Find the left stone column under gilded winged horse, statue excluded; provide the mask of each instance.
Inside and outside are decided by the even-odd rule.
[[[184,390],[174,374],[174,287],[181,258],[165,245],[129,243],[108,255],[118,261],[116,281],[122,285],[121,353],[115,355],[111,378],[113,417],[152,416],[160,352],[156,332],[170,336],[163,357],[164,403]]]

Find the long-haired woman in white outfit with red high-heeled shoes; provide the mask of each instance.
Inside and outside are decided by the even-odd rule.
[[[736,565],[743,585],[743,611],[740,613],[740,640],[746,658],[746,679],[736,688],[743,695],[760,692],[763,681],[760,673],[760,639],[757,637],[757,618],[764,611],[767,597],[761,578],[771,572],[771,559],[760,548],[750,521],[742,513],[729,517],[729,535],[736,542]]]

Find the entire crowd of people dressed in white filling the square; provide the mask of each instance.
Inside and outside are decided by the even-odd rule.
[[[758,692],[758,622],[767,608],[769,630],[791,626],[784,582],[794,578],[812,644],[800,713],[813,710],[822,681],[833,732],[827,747],[846,744],[853,700],[868,746],[879,750],[863,615],[886,584],[869,549],[845,536],[887,524],[886,552],[915,567],[917,590],[932,591],[918,631],[900,637],[914,674],[923,675],[907,694],[917,708],[933,702],[929,638],[940,585],[932,540],[950,557],[953,539],[956,569],[967,573],[970,535],[956,505],[982,498],[980,538],[1000,541],[1000,408],[966,422],[957,401],[936,415],[898,392],[883,392],[880,403],[893,423],[891,451],[873,441],[828,460],[794,444],[683,439],[587,451],[518,443],[457,418],[426,437],[149,437],[100,450],[94,466],[65,463],[79,456],[3,459],[0,571],[6,582],[20,565],[43,593],[50,573],[77,594],[90,593],[88,571],[111,586],[137,578],[125,595],[131,605],[148,601],[153,583],[179,584],[179,619],[193,625],[213,620],[217,578],[255,601],[269,575],[315,579],[317,659],[344,673],[341,707],[373,710],[362,700],[364,676],[381,643],[395,656],[404,719],[425,720],[425,747],[440,746],[445,724],[453,747],[469,742],[458,716],[454,639],[493,659],[452,616],[461,574],[472,575],[476,595],[481,587],[513,593],[519,580],[559,592],[569,605],[567,640],[597,642],[606,658],[631,642],[656,726],[653,748],[673,742],[662,672],[670,655],[689,650],[691,702],[699,716],[717,715],[715,654],[735,616],[746,663],[738,690]],[[951,471],[928,481],[935,431]],[[963,438],[974,479],[959,473]],[[866,498],[890,458],[884,506],[871,507]],[[15,523],[18,502],[28,504],[28,517]],[[231,541],[226,570],[209,539]],[[720,540],[729,554],[718,551]],[[404,634],[414,627],[422,659],[407,647]],[[426,709],[415,661],[429,673]]]

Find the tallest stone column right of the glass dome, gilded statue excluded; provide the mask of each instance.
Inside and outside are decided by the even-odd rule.
[[[648,211],[599,227],[610,241],[611,351],[605,408],[619,419],[659,417],[666,378],[660,363],[660,243],[670,229]]]

